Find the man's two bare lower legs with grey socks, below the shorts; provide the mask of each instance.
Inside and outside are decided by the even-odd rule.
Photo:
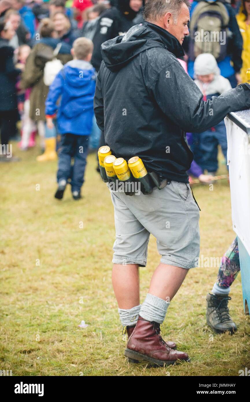
[[[160,263],[154,271],[149,293],[141,306],[139,304],[138,265],[113,265],[113,288],[119,306],[120,319],[127,328],[128,337],[132,334],[141,314],[146,320],[163,322],[170,300],[178,291],[187,271],[184,268]],[[173,342],[169,342],[167,345],[170,348],[176,347]]]

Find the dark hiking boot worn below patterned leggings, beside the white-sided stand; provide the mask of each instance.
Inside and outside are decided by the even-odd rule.
[[[207,324],[217,334],[226,331],[233,334],[237,330],[236,323],[229,315],[228,300],[231,300],[228,295],[207,294]]]

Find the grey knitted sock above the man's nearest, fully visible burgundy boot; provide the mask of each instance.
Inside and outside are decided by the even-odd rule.
[[[167,301],[148,293],[141,306],[140,316],[144,318],[144,320],[155,321],[162,324],[169,305],[170,303]]]

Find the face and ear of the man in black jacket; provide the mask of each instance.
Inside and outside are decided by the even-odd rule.
[[[177,16],[176,24],[174,24],[174,18],[171,13],[167,13],[164,18],[165,29],[172,35],[174,35],[180,44],[184,40],[186,35],[189,35],[188,23],[190,21],[189,9],[186,4],[182,4],[180,12]]]

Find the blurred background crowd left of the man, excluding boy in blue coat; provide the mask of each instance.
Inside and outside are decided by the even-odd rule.
[[[37,160],[55,160],[57,134],[61,133],[57,129],[57,119],[54,119],[53,128],[46,124],[45,100],[49,85],[45,83],[44,75],[47,62],[56,57],[61,67],[64,66],[73,58],[71,49],[74,41],[85,37],[94,42],[92,65],[97,72],[101,63],[100,44],[142,21],[142,6],[142,0],[1,0],[1,144],[6,146],[10,139],[18,138],[16,123],[21,121],[20,149],[26,151],[34,146],[38,133],[42,154]],[[139,19],[135,21],[137,15]],[[89,118],[88,145],[96,149],[101,134],[94,113],[92,116],[90,113]],[[6,152],[2,152],[1,162],[18,160],[7,156]]]

